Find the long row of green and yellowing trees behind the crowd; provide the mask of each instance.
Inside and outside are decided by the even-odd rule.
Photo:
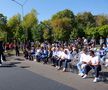
[[[108,16],[92,15],[91,12],[78,13],[69,9],[59,11],[50,20],[38,23],[37,12],[32,9],[21,20],[16,14],[8,21],[0,14],[0,37],[4,40],[34,40],[43,42],[69,41],[77,37],[105,38],[108,35]]]

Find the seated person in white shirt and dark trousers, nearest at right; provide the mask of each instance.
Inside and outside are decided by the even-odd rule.
[[[97,82],[99,79],[99,71],[101,71],[101,65],[99,57],[95,55],[94,51],[90,51],[90,62],[85,66],[85,75],[83,78],[87,77],[88,72],[93,69],[95,71],[95,79],[93,82]]]

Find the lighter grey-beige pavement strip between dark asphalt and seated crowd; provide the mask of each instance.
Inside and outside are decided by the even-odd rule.
[[[69,87],[75,88],[76,90],[108,90],[108,82],[93,83],[93,78],[82,79],[77,74],[71,72],[62,72],[56,70],[51,65],[43,65],[35,61],[24,60],[23,57],[12,56],[8,59],[11,62],[20,62],[16,64],[17,67],[29,70],[42,77],[57,81]]]

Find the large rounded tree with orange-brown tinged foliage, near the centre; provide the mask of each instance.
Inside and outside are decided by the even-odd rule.
[[[75,27],[75,17],[71,10],[65,9],[52,16],[54,40],[68,41],[72,29]]]

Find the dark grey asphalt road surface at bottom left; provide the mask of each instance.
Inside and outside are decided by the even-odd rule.
[[[76,90],[19,67],[0,67],[0,90]]]

